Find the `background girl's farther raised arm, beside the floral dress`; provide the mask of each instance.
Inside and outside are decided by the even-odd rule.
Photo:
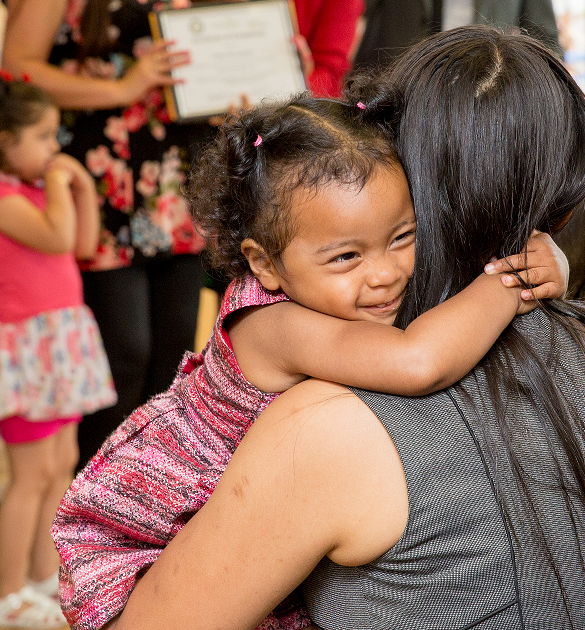
[[[77,233],[73,250],[75,258],[92,258],[97,250],[100,227],[98,196],[93,177],[80,162],[65,153],[57,155],[52,166],[71,174],[71,194],[77,212]]]

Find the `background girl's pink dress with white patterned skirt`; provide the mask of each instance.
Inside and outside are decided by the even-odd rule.
[[[44,212],[42,185],[0,173],[0,199],[8,196]],[[69,418],[115,402],[73,254],[46,254],[0,233],[0,421]]]

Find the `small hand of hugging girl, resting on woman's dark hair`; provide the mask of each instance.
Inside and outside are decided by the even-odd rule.
[[[508,271],[520,271],[518,274],[530,289],[521,292],[523,300],[563,298],[569,286],[569,263],[562,250],[550,235],[534,230],[528,240],[527,255],[515,254],[507,259],[488,263],[484,271],[487,274],[504,272],[502,282],[507,287],[520,286],[520,281]]]

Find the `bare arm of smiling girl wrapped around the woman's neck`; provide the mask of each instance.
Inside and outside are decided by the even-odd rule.
[[[552,241],[550,248],[555,248]],[[555,252],[556,253],[556,252]],[[549,256],[539,282],[562,284]],[[528,263],[532,268],[529,255]],[[564,292],[559,289],[558,296]],[[407,396],[452,385],[491,348],[516,313],[530,310],[520,289],[482,274],[466,289],[424,313],[402,331],[345,321],[283,302],[258,308],[236,322],[230,338],[242,372],[264,391],[282,391],[306,375]],[[539,287],[533,289],[541,297]],[[545,295],[545,297],[549,297]]]

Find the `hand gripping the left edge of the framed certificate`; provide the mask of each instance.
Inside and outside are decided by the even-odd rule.
[[[169,40],[155,42],[120,79],[123,102],[135,103],[153,88],[181,83],[172,77],[171,70],[189,64],[189,53],[171,50],[173,44]]]

